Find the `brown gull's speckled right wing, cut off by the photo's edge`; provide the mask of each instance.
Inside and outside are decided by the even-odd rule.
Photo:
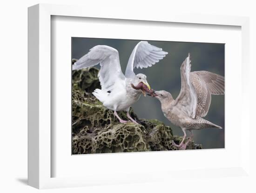
[[[197,94],[196,116],[204,117],[209,111],[211,95],[224,94],[224,77],[208,71],[194,71],[189,78]]]

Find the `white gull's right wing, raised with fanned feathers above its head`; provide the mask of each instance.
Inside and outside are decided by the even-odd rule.
[[[133,78],[135,76],[133,71],[135,67],[148,68],[148,66],[159,62],[166,54],[168,52],[162,51],[162,48],[151,45],[147,41],[140,41],[133,49],[128,60],[125,77]]]

